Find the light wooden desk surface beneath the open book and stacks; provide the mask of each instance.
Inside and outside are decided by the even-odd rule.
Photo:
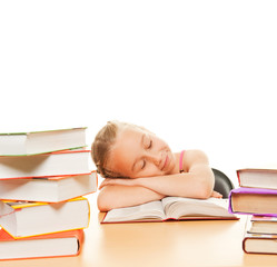
[[[97,195],[90,195],[91,221],[78,257],[0,261],[0,267],[277,266],[277,256],[241,248],[239,221],[171,221],[100,225]]]

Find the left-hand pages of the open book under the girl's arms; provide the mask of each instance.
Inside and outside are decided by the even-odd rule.
[[[107,212],[103,222],[166,219],[161,201],[151,201],[133,207],[112,209]]]

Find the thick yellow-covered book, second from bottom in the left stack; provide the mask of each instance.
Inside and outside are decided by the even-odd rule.
[[[0,226],[16,239],[83,229],[89,218],[85,197],[58,204],[0,201]]]

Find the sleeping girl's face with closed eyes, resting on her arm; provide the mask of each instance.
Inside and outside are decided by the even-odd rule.
[[[126,126],[118,132],[107,168],[123,177],[151,177],[172,174],[175,161],[164,140],[139,127]]]

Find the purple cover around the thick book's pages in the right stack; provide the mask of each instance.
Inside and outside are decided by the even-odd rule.
[[[228,210],[231,214],[245,214],[245,215],[277,217],[277,214],[265,214],[265,212],[256,214],[256,212],[247,212],[247,211],[245,211],[245,212],[234,211],[231,201],[233,201],[233,196],[236,194],[240,194],[240,195],[243,195],[243,194],[246,194],[246,195],[276,195],[277,196],[277,190],[265,189],[265,188],[249,188],[249,187],[239,187],[239,188],[233,189],[229,194],[229,207],[228,207]],[[277,205],[277,202],[276,202],[276,205]]]

